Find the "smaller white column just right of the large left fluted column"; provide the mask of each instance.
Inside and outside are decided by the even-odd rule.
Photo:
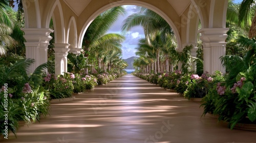
[[[63,75],[68,71],[68,52],[69,52],[68,43],[54,43],[54,55],[55,55],[55,74]]]

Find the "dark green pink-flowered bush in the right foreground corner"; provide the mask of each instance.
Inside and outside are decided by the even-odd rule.
[[[256,65],[237,76],[231,87],[225,82],[217,83],[203,99],[204,113],[218,114],[219,120],[229,122],[229,127],[237,123],[256,124]]]

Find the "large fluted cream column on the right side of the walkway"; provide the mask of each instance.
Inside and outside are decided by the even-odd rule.
[[[204,49],[204,72],[213,74],[216,70],[225,73],[225,68],[221,65],[220,57],[225,55],[228,28],[203,28],[199,30],[202,34]]]

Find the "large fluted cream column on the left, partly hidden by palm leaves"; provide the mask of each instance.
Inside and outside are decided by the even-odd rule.
[[[35,60],[28,69],[28,74],[32,74],[37,66],[47,62],[48,45],[52,39],[50,33],[53,30],[49,28],[26,28],[22,30],[25,33],[24,38],[26,39],[26,58]]]

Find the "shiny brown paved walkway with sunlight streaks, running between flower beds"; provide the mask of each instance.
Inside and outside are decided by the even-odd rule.
[[[187,101],[132,75],[54,104],[51,115],[21,128],[13,143],[256,142],[256,132],[230,130],[202,117],[199,102]]]

